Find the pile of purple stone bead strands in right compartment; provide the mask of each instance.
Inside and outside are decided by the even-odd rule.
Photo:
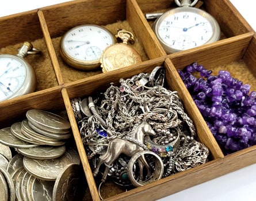
[[[178,73],[224,154],[256,144],[256,91],[249,84],[224,70],[213,76],[197,63]]]

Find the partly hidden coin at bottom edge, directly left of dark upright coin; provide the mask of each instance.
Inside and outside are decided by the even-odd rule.
[[[55,181],[34,180],[32,184],[33,201],[51,201]]]

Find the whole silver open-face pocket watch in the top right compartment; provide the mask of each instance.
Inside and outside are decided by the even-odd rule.
[[[179,6],[157,18],[152,26],[166,53],[174,53],[215,42],[220,27],[215,18],[204,10],[192,7],[198,0],[175,0]]]

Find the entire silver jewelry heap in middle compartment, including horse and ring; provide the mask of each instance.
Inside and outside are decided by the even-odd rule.
[[[208,148],[195,140],[192,120],[164,80],[157,66],[98,97],[71,100],[94,176],[137,187],[207,162]]]

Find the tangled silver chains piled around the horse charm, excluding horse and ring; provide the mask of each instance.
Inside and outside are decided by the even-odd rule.
[[[110,83],[110,87],[98,98],[93,100],[89,97],[89,108],[93,113],[91,117],[79,119],[77,107],[74,100],[71,100],[75,117],[79,119],[77,122],[83,144],[91,149],[88,158],[93,159],[97,154],[105,152],[113,138],[123,138],[149,150],[146,144],[133,137],[135,125],[147,121],[158,133],[152,139],[154,143],[164,146],[180,138],[176,153],[162,158],[165,164],[163,177],[205,163],[209,150],[194,140],[196,129],[185,113],[177,91],[167,90],[163,86],[148,87],[140,84],[149,78],[150,74],[141,73],[131,79],[120,79],[120,87]],[[187,124],[185,127],[184,122]],[[99,129],[106,136],[101,136]],[[190,132],[184,132],[184,129]],[[178,136],[177,132],[181,135]]]

